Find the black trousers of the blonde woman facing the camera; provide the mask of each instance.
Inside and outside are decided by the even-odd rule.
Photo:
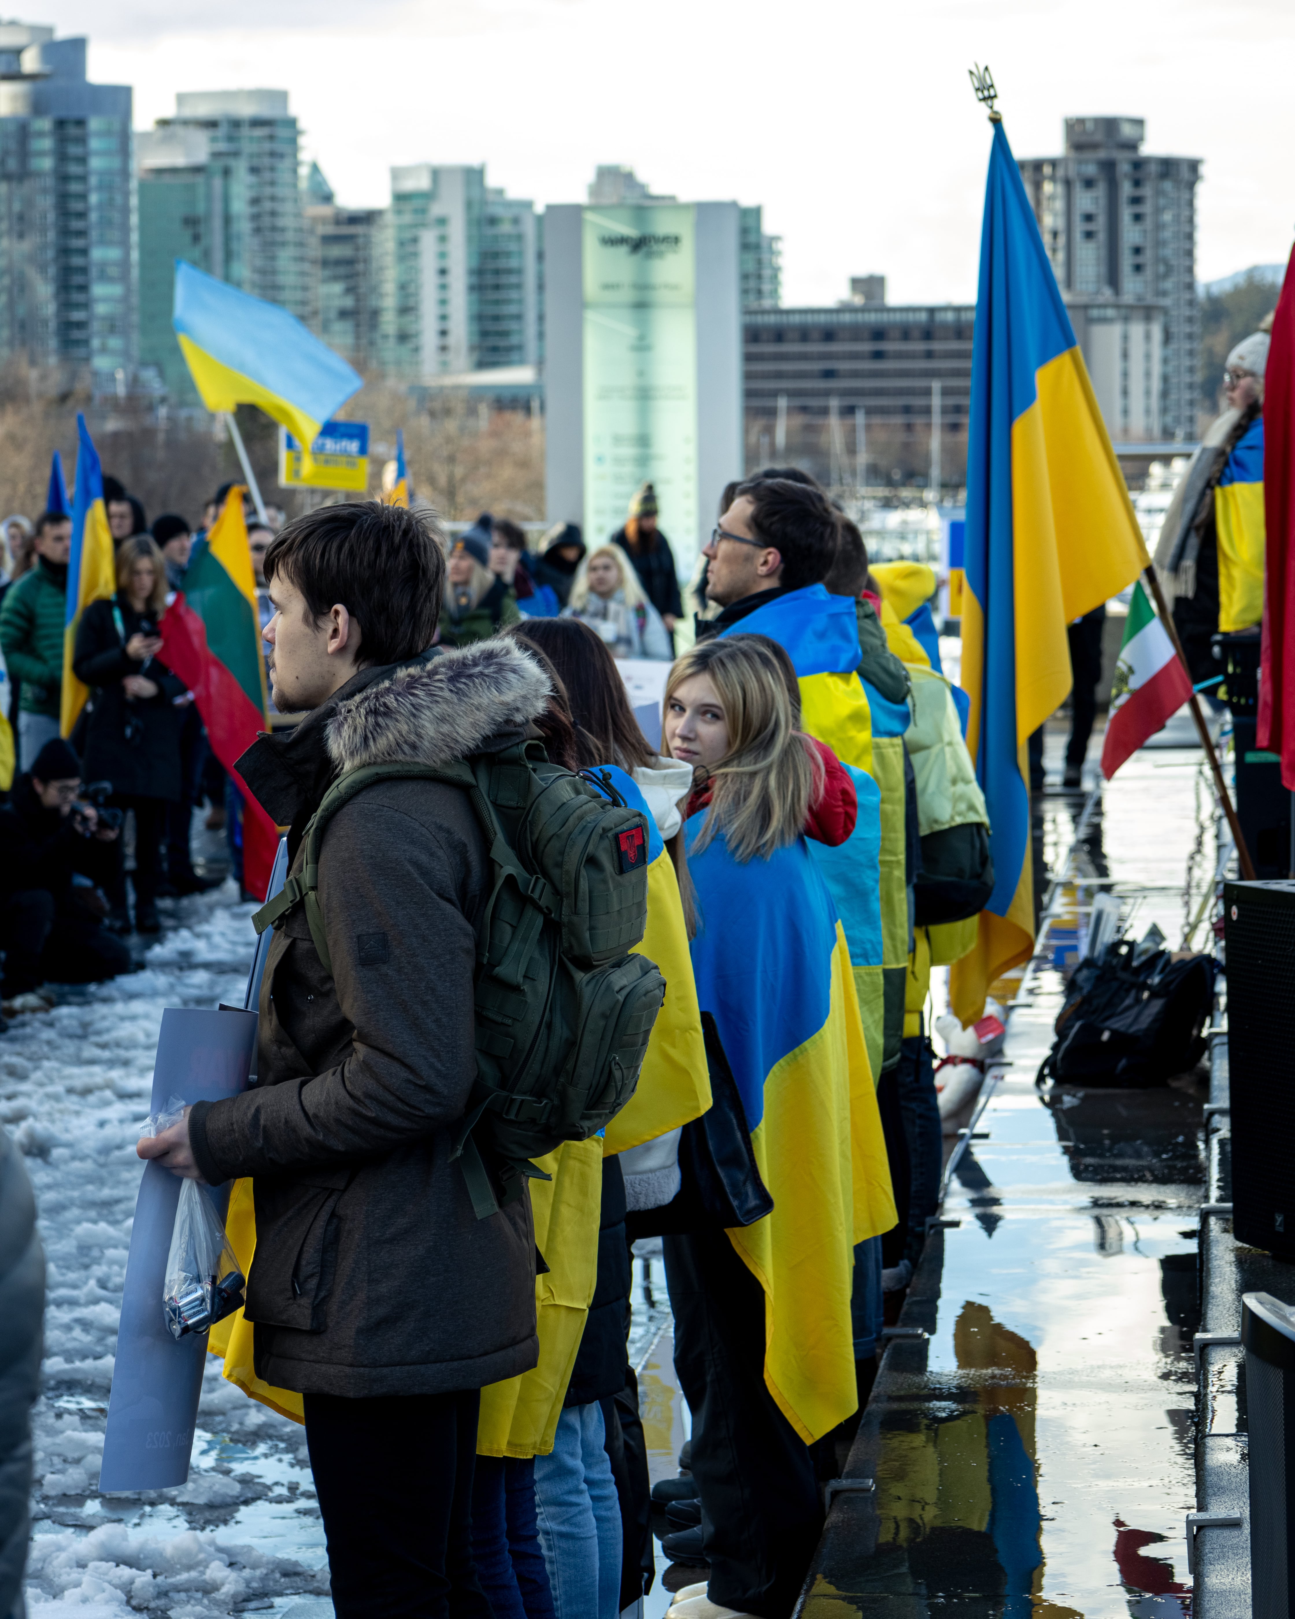
[[[722,1230],[665,1237],[675,1371],[693,1412],[693,1478],[712,1603],[787,1619],[822,1532],[809,1447],[764,1383],[764,1289]]]

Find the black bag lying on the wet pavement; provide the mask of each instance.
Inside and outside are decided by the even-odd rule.
[[[1201,1060],[1214,958],[1175,962],[1169,950],[1156,950],[1135,965],[1133,952],[1122,939],[1075,968],[1039,1081],[1135,1090],[1164,1085]]]

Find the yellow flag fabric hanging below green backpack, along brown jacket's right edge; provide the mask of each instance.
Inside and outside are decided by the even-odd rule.
[[[552,1180],[531,1182],[536,1247],[549,1271],[536,1277],[539,1363],[481,1391],[479,1455],[547,1455],[571,1381],[597,1282],[602,1143],[563,1141],[536,1159]]]

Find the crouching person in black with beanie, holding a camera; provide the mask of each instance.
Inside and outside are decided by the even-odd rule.
[[[37,984],[91,984],[130,971],[126,945],[104,926],[121,863],[121,816],[81,792],[62,737],[47,742],[0,810],[3,1010],[37,1012]],[[102,887],[100,887],[102,884]]]

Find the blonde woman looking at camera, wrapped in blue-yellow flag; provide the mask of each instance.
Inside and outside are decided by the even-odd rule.
[[[795,1606],[822,1527],[809,1444],[858,1405],[853,1247],[895,1224],[850,954],[805,843],[826,763],[783,661],[764,636],[706,641],[664,703],[664,748],[694,777],[698,1004],[774,1198],[753,1226],[664,1239],[711,1564],[680,1619]]]

